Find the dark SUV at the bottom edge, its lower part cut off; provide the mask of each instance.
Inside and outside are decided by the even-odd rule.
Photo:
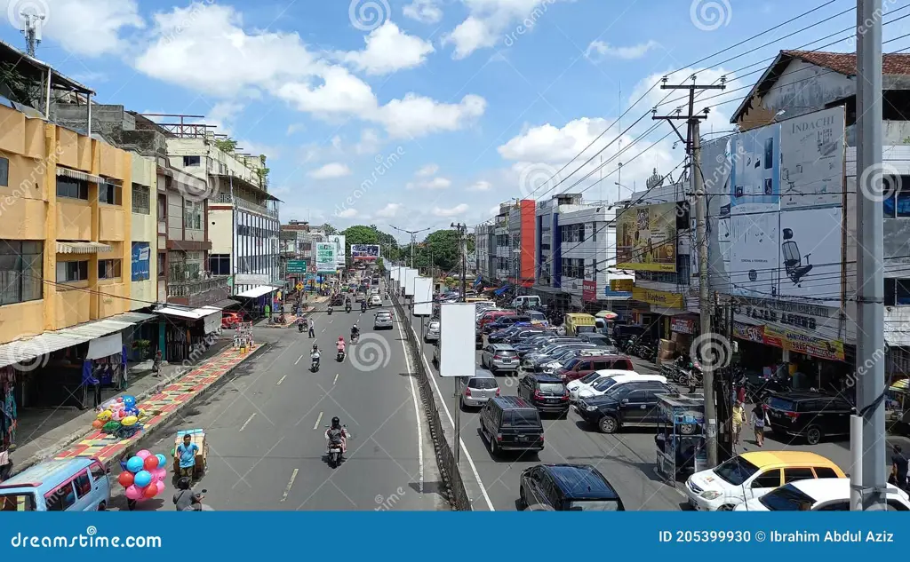
[[[538,465],[521,472],[522,509],[625,511],[610,482],[591,465]]]

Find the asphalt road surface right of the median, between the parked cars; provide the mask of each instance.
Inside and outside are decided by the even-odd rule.
[[[428,319],[429,320],[429,319]],[[426,322],[427,320],[425,320]],[[420,318],[412,318],[420,332]],[[458,398],[451,379],[443,379],[432,366],[433,346],[424,344],[426,367],[434,373],[434,382],[445,396],[448,415],[454,419]],[[518,379],[498,376],[503,395],[517,394]],[[446,416],[443,412],[441,415]],[[587,427],[579,416],[570,412],[566,419],[543,418],[545,448],[539,455],[513,453],[508,457],[490,456],[486,441],[480,437],[478,412],[461,413],[462,470],[476,467],[486,497],[473,498],[475,510],[513,511],[517,509],[521,471],[541,463],[589,464],[597,467],[613,487],[628,510],[664,511],[680,509],[682,493],[662,483],[654,472],[654,431],[651,428],[626,429],[622,434],[604,435]],[[489,497],[489,502],[488,498]]]

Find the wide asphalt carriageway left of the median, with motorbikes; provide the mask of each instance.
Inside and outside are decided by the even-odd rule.
[[[207,489],[204,503],[213,510],[448,509],[398,322],[375,332],[374,311],[311,315],[323,351],[317,373],[308,370],[313,340],[307,334],[261,329],[257,337],[269,348],[147,448],[169,457],[177,429],[204,428],[208,470],[195,489]],[[355,322],[360,341],[339,363],[334,342],[349,339]],[[347,459],[334,470],[324,437],[332,416],[353,434]],[[112,507],[126,508],[115,487]],[[169,480],[161,497],[136,509],[174,509],[174,492]]]

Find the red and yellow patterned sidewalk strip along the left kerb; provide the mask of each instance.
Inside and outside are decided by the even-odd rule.
[[[143,430],[128,439],[118,439],[109,436],[100,430],[91,429],[86,432],[86,437],[73,444],[65,451],[57,453],[55,458],[96,457],[104,463],[110,462],[122,455],[127,448],[136,441],[161,426],[167,419],[174,416],[187,400],[197,396],[200,392],[211,386],[219,378],[225,376],[234,367],[248,359],[253,350],[241,354],[238,349],[228,347],[217,356],[208,359],[204,364],[180,377],[169,386],[166,386],[154,396],[149,396],[137,406],[143,411],[139,422]]]

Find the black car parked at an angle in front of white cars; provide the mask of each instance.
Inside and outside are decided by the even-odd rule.
[[[635,381],[618,385],[603,396],[581,398],[575,411],[603,433],[616,433],[626,426],[657,426],[661,421],[657,395],[675,392],[659,381]]]

